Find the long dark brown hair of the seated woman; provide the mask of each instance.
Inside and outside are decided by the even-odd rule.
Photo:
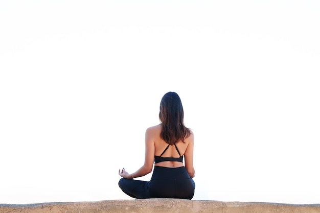
[[[180,97],[175,92],[167,92],[161,100],[159,119],[162,123],[160,137],[167,144],[173,145],[178,141],[185,143],[185,138],[191,132],[184,124],[184,108]]]

